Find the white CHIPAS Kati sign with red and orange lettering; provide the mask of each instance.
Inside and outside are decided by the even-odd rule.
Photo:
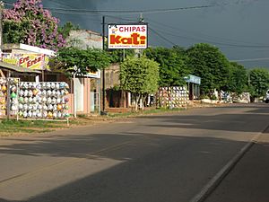
[[[108,24],[108,48],[143,49],[148,46],[146,23]]]

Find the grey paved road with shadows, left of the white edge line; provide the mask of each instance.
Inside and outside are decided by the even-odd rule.
[[[187,202],[265,131],[268,114],[230,105],[1,137],[0,202]]]

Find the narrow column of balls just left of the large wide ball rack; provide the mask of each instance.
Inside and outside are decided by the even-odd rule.
[[[16,116],[18,113],[18,84],[20,80],[18,78],[9,78],[9,96],[10,96],[10,115]]]

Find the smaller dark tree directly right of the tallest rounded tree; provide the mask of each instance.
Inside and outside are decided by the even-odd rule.
[[[236,92],[241,94],[247,89],[247,70],[244,66],[239,65],[236,62],[230,62],[230,76],[229,83],[223,89],[227,92]]]

